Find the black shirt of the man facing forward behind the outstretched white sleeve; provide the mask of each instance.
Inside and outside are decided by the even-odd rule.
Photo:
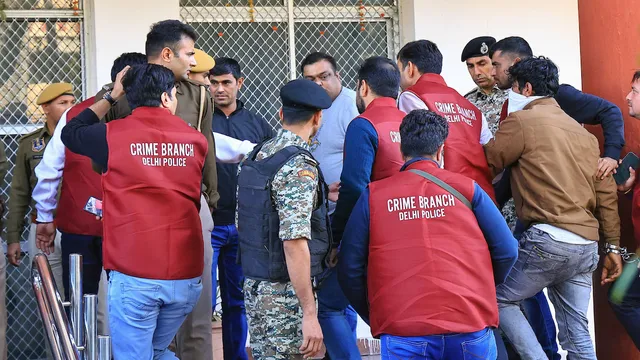
[[[249,140],[259,143],[275,135],[269,123],[244,107],[237,101],[237,109],[229,117],[217,107],[213,111],[213,131],[231,136],[238,140]],[[217,225],[235,223],[236,188],[238,186],[238,165],[218,163],[218,208],[213,213],[213,221]]]

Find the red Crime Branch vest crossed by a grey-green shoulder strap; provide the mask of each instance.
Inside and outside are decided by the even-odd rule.
[[[474,182],[428,160],[369,185],[371,333],[428,336],[498,326],[489,247],[473,212],[438,185],[473,199]]]

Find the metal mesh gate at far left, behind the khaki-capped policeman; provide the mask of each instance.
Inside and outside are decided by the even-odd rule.
[[[1,196],[8,199],[18,140],[43,126],[36,98],[52,82],[85,92],[83,12],[78,0],[0,0],[0,137],[10,163]],[[4,18],[4,20],[2,20]],[[25,217],[25,224],[29,218]],[[23,232],[26,250],[28,227]],[[4,246],[1,256],[4,256]],[[45,358],[44,336],[31,289],[30,259],[7,265],[9,359]]]

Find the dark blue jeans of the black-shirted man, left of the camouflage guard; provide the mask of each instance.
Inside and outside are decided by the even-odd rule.
[[[211,282],[212,308],[216,307],[216,268],[220,277],[222,300],[222,347],[225,360],[247,360],[247,312],[244,307],[242,266],[236,263],[238,254],[238,230],[235,225],[220,225],[211,232],[213,262]]]

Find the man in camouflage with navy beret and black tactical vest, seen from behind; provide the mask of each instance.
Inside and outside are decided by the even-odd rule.
[[[305,79],[285,85],[280,96],[282,129],[275,138],[258,145],[248,155],[240,165],[238,177],[236,223],[246,277],[244,296],[251,349],[256,360],[310,357],[320,350],[323,339],[312,277],[325,269],[324,260],[329,252],[328,223],[318,225],[323,221],[315,221],[318,209],[324,210],[322,216],[326,217],[328,188],[318,163],[309,153],[309,143],[320,128],[321,110],[331,106],[331,99],[319,85]],[[288,151],[294,152],[283,156]],[[260,232],[265,226],[255,223],[256,219],[265,218],[260,214],[264,207],[260,208],[262,203],[259,201],[252,203],[257,196],[247,185],[253,180],[251,171],[263,169],[260,166],[265,165],[260,164],[269,164],[278,156],[283,160],[271,167],[275,174],[268,182],[268,204],[264,206],[272,208],[266,209],[269,214],[277,212],[275,219],[279,220],[279,226],[275,234],[265,234]],[[260,194],[265,196],[264,192]],[[266,228],[270,228],[268,222]],[[318,240],[323,236],[325,242]],[[275,247],[269,242],[273,238]],[[251,248],[252,242],[260,244],[259,250]],[[263,248],[268,249],[268,254],[261,257]],[[279,259],[273,260],[282,249],[284,259],[280,255]],[[261,260],[266,263],[264,266],[260,265]],[[272,270],[279,261],[284,270],[280,270],[280,276],[274,276]]]

